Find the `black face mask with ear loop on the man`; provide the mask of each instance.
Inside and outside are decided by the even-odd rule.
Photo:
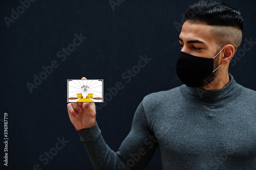
[[[222,48],[222,50],[224,47]],[[221,51],[222,51],[221,50]],[[220,52],[221,52],[220,51]],[[221,65],[214,70],[214,58],[202,58],[180,52],[176,64],[177,75],[188,87],[199,87],[201,82],[215,72]]]

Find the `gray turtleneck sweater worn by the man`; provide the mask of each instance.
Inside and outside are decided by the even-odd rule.
[[[78,131],[95,169],[256,169],[256,91],[229,75],[220,90],[185,85],[146,95],[117,152],[96,125]]]

